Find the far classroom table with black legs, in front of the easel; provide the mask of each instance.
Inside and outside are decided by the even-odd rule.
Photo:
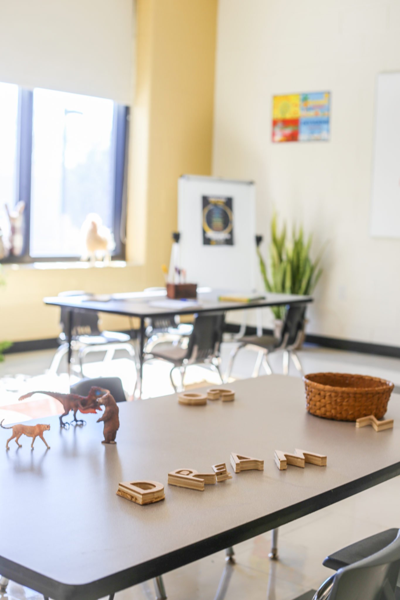
[[[55,296],[44,298],[45,304],[68,308],[68,331],[65,332],[69,341],[68,346],[68,373],[71,365],[71,337],[73,329],[73,312],[83,308],[94,310],[98,313],[119,314],[140,319],[139,338],[139,370],[137,372],[136,389],[139,398],[142,397],[143,363],[145,362],[145,320],[151,317],[175,316],[193,313],[214,313],[231,310],[249,310],[249,308],[264,308],[270,306],[285,306],[293,304],[307,304],[312,302],[312,296],[294,294],[268,293],[263,298],[252,302],[221,302],[220,295],[231,292],[228,290],[212,290],[210,288],[197,289],[196,301],[176,301],[166,298],[166,290],[155,289],[153,292],[119,293],[113,295],[82,295],[82,296]],[[233,293],[236,296],[245,296],[243,292]]]

